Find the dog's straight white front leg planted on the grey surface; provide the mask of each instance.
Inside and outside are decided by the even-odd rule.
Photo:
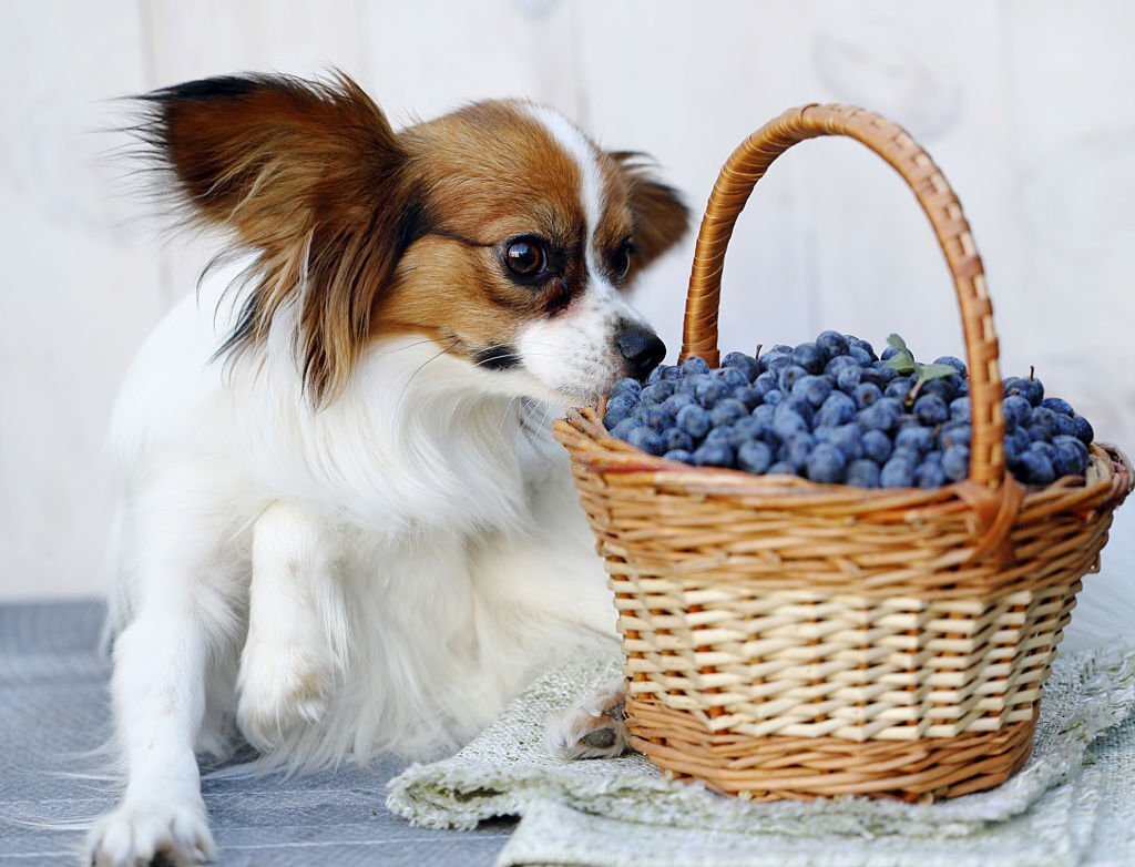
[[[143,599],[115,642],[111,693],[127,785],[121,803],[91,831],[95,867],[188,865],[213,857],[194,756],[210,624],[188,596],[158,592]]]

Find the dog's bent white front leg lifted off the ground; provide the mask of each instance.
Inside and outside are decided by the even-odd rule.
[[[283,502],[269,506],[253,530],[237,722],[261,750],[294,726],[318,722],[346,665],[350,626],[331,532]]]

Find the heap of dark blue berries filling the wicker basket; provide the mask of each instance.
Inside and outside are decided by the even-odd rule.
[[[864,488],[936,488],[969,474],[966,365],[917,364],[897,336],[878,357],[857,337],[662,365],[615,382],[603,423],[636,448],[698,466],[800,475]],[[1039,379],[1004,386],[1009,470],[1027,485],[1081,475],[1092,426]]]

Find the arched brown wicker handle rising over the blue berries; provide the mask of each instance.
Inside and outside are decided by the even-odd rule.
[[[810,104],[789,109],[765,124],[733,151],[706,204],[686,298],[680,360],[699,355],[720,363],[717,309],[725,249],[738,216],[772,162],[793,144],[822,135],[846,135],[867,145],[902,176],[930,218],[953,276],[961,309],[969,367],[973,436],[969,479],[998,488],[1004,479],[1004,418],[993,310],[961,204],[938,166],[901,127],[878,115],[848,106]]]

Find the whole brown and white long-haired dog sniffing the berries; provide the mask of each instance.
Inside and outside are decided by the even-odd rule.
[[[158,326],[114,412],[125,790],[100,866],[213,856],[197,754],[438,756],[615,640],[549,420],[662,361],[624,289],[688,224],[638,154],[524,101],[395,132],[340,74],[138,99],[159,192],[243,258]],[[621,696],[598,700],[569,752],[622,749]]]

